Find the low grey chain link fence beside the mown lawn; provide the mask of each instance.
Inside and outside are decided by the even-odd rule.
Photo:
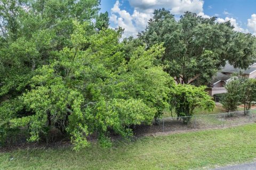
[[[184,117],[164,117],[154,121],[153,125],[140,125],[135,134],[157,132],[186,131],[192,129],[211,129],[242,125],[256,122],[256,109],[231,113],[193,115]]]

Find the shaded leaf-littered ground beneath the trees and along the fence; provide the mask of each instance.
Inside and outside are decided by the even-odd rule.
[[[195,115],[189,118],[188,124],[183,123],[183,118],[169,117],[159,120],[159,124],[156,125],[153,122],[152,125],[139,125],[133,127],[135,138],[143,136],[155,136],[171,133],[191,132],[202,129],[219,129],[228,128],[231,126],[248,124],[256,121],[256,111],[251,111],[250,114],[245,115],[244,112],[237,112],[230,115],[215,114],[215,115]],[[28,143],[26,141],[27,132],[19,132],[17,134],[10,134],[7,138],[5,147],[0,147],[0,152],[11,151],[22,148],[58,148],[62,146],[70,146],[69,138],[64,138],[58,130],[52,130],[47,137],[43,138],[37,143]],[[121,139],[118,135],[110,134],[111,139]],[[97,139],[97,135],[91,135],[87,138],[89,141]]]

